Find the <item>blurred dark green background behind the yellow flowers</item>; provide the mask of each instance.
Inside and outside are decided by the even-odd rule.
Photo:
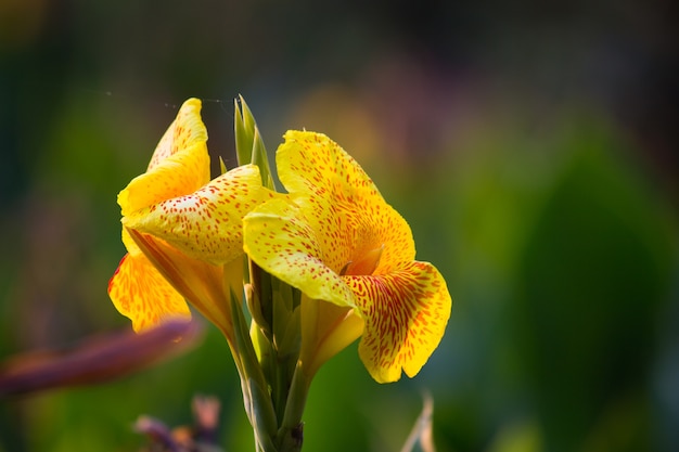
[[[434,399],[438,450],[679,450],[675,2],[0,2],[0,358],[129,328],[106,295],[117,192],[177,106],[206,99],[233,166],[242,93],[354,155],[454,299],[414,378],[325,365],[308,451],[398,451]],[[223,403],[226,343],[114,383],[0,400],[0,451],[136,451],[138,415]]]

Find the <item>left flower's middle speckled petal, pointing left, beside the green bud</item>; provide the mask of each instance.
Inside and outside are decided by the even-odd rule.
[[[273,196],[261,186],[259,169],[245,165],[192,194],[138,210],[123,224],[159,237],[189,257],[222,264],[243,254],[243,217]]]

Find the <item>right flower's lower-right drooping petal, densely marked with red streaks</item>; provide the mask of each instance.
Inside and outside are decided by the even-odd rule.
[[[396,382],[401,369],[420,372],[438,346],[452,300],[434,266],[413,261],[388,274],[344,276],[366,322],[359,354],[379,383]]]

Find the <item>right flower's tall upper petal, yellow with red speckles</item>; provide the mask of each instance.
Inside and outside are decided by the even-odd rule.
[[[377,248],[375,273],[414,259],[408,222],[334,141],[322,133],[289,131],[276,158],[281,181],[310,220],[324,262],[336,273]]]

